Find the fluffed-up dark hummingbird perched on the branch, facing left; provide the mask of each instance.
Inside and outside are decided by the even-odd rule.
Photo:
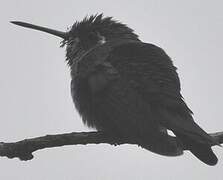
[[[169,141],[171,130],[198,159],[217,163],[211,146],[218,142],[194,122],[176,67],[160,47],[142,42],[128,26],[102,14],[75,22],[67,32],[12,23],[63,38],[72,98],[86,125],[177,156],[183,150]]]

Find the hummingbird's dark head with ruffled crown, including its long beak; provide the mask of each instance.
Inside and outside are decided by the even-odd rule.
[[[12,21],[12,23],[63,38],[61,46],[66,46],[66,58],[70,66],[77,57],[98,45],[125,39],[139,40],[133,30],[125,24],[115,21],[111,17],[103,17],[102,14],[86,17],[80,22],[75,22],[67,32],[19,21]]]

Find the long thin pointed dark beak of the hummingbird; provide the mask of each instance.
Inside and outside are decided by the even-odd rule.
[[[34,24],[29,24],[29,23],[21,22],[21,21],[11,21],[11,23],[16,24],[18,26],[23,26],[23,27],[26,27],[26,28],[31,28],[31,29],[35,29],[35,30],[38,30],[38,31],[43,31],[43,32],[46,32],[46,33],[49,33],[49,34],[53,34],[55,36],[58,36],[58,37],[61,37],[61,38],[65,39],[65,40],[68,39],[68,33],[67,32],[57,31],[57,30],[54,30],[54,29],[49,29],[49,28],[46,28],[46,27],[37,26],[37,25],[34,25]]]

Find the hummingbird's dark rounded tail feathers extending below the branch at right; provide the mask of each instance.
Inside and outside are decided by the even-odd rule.
[[[218,162],[218,158],[211,149],[211,145],[207,142],[201,143],[192,139],[185,134],[174,132],[176,136],[182,141],[184,146],[187,147],[198,159],[207,165],[214,166]]]

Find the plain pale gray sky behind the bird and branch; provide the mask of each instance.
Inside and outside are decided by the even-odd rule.
[[[182,93],[206,131],[223,130],[223,3],[220,0],[2,1],[0,7],[0,141],[86,131],[70,96],[60,39],[9,23],[23,20],[66,30],[103,12],[161,46],[178,67]],[[134,145],[69,146],[36,152],[32,161],[0,158],[4,180],[188,180],[223,178],[223,149],[209,167],[185,152],[170,158]]]

